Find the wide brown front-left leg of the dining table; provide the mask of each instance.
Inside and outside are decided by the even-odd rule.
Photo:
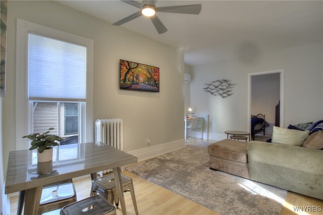
[[[41,197],[42,186],[34,187],[26,190],[25,196],[25,215],[38,215],[39,214],[39,202]]]

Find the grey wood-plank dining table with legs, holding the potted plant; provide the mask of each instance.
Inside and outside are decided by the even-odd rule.
[[[65,181],[112,169],[122,213],[126,205],[122,191],[120,167],[136,163],[138,158],[102,142],[61,145],[53,147],[50,162],[37,163],[36,150],[10,151],[5,193],[25,192],[24,214],[38,214],[44,185]]]

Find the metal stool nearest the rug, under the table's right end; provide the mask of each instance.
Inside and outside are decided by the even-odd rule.
[[[136,214],[138,215],[138,208],[137,208],[135,190],[133,188],[132,179],[121,174],[121,180],[122,180],[123,191],[126,192],[130,190],[133,206],[135,208]],[[94,179],[92,181],[90,195],[93,195],[94,193],[98,193],[104,196],[104,198],[106,198],[106,200],[108,200],[110,203],[113,204],[115,202],[116,207],[118,208],[119,196],[116,193],[116,191],[117,191],[117,188],[115,183],[115,176],[113,174],[109,174],[101,178]]]

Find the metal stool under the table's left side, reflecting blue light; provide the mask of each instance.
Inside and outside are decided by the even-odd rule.
[[[44,187],[40,198],[39,213],[59,209],[76,201],[75,187],[72,183]]]

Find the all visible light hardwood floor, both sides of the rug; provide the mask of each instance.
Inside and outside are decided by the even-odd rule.
[[[128,171],[123,174],[133,179],[139,214],[219,214]],[[74,180],[74,184],[78,200],[89,196],[90,176]],[[127,213],[135,214],[130,192],[126,192],[124,195]],[[18,196],[10,198],[11,214],[16,214],[17,202]],[[309,206],[312,207],[312,210],[321,209],[321,211],[293,212],[294,207],[305,210],[305,207]],[[121,208],[117,209],[117,214],[122,214]],[[323,214],[323,200],[288,192],[281,214]]]

